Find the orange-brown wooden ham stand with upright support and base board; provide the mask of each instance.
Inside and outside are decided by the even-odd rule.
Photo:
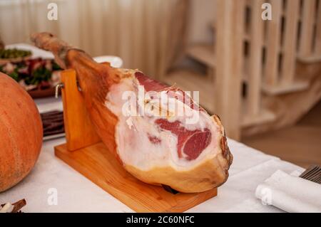
[[[172,194],[129,174],[93,130],[78,91],[76,72],[64,70],[61,80],[67,142],[54,148],[56,157],[137,212],[183,212],[217,195],[217,189]]]

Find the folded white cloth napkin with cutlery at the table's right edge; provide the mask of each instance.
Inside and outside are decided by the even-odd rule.
[[[321,184],[281,170],[259,184],[255,196],[287,212],[321,212]]]

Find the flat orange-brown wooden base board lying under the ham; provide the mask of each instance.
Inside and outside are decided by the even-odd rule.
[[[139,181],[108,152],[102,142],[76,151],[55,147],[56,157],[137,212],[183,212],[217,195],[217,189],[195,194],[171,194],[161,186]]]

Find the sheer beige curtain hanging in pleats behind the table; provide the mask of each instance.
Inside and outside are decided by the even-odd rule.
[[[51,2],[57,21],[47,19]],[[0,36],[6,44],[30,43],[31,33],[49,31],[157,77],[182,53],[187,9],[187,0],[1,0]]]

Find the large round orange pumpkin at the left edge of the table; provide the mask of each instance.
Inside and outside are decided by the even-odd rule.
[[[39,111],[28,93],[0,73],[0,192],[29,174],[42,144]]]

